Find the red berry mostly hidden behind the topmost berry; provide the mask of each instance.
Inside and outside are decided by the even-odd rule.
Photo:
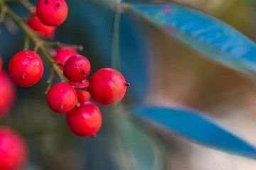
[[[31,16],[35,15],[36,12],[31,13]],[[44,25],[37,16],[28,19],[28,26],[38,32],[42,38],[53,38],[56,27]]]

